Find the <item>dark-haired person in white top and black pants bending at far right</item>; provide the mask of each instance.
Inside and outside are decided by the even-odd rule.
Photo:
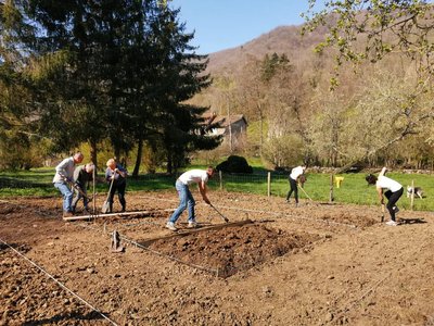
[[[387,210],[391,214],[391,221],[386,222],[387,225],[396,226],[395,214],[399,211],[396,202],[404,193],[404,187],[398,183],[385,176],[387,168],[383,167],[379,174],[379,177],[370,174],[366,177],[368,185],[375,185],[376,192],[379,193],[380,203],[384,204],[383,192],[384,189],[387,189],[384,192],[384,196],[387,198]]]

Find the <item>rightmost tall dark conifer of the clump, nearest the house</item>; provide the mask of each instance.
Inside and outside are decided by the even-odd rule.
[[[151,25],[155,42],[152,43],[156,63],[154,121],[164,143],[167,172],[173,173],[188,161],[188,154],[196,150],[216,148],[219,137],[204,133],[202,114],[208,109],[187,103],[196,92],[209,86],[209,75],[204,74],[206,55],[195,53],[189,42],[193,34],[186,33],[179,23],[179,10],[165,8]]]

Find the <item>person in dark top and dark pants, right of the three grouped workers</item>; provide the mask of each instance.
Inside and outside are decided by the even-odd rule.
[[[110,159],[107,161],[107,170],[105,171],[105,180],[108,183],[108,187],[112,184],[112,189],[110,190],[108,196],[108,212],[113,212],[113,198],[117,191],[117,197],[119,199],[122,205],[122,212],[125,212],[127,209],[127,202],[125,200],[125,189],[127,187],[127,175],[128,172],[120,164],[117,164],[114,159]]]

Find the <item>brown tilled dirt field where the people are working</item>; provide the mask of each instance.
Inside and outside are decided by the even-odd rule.
[[[431,212],[391,227],[380,208],[210,192],[225,224],[194,196],[201,227],[184,213],[178,233],[175,191],[90,222],[64,222],[60,197],[1,200],[0,325],[434,325]]]

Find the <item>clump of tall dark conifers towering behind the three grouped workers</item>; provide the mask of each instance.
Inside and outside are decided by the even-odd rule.
[[[21,70],[28,67],[25,86],[31,91],[26,101],[30,109],[23,115],[33,117],[53,150],[88,142],[97,163],[104,139],[117,156],[128,154],[136,142],[138,158],[143,141],[165,143],[171,168],[190,151],[218,145],[217,138],[194,133],[206,108],[184,103],[210,80],[203,74],[206,58],[189,46],[193,34],[178,22],[179,10],[157,0],[8,3],[2,27],[16,36],[10,45],[18,50],[4,53],[12,58],[13,74],[20,72],[13,54],[22,55]],[[140,160],[135,171],[138,164]]]

